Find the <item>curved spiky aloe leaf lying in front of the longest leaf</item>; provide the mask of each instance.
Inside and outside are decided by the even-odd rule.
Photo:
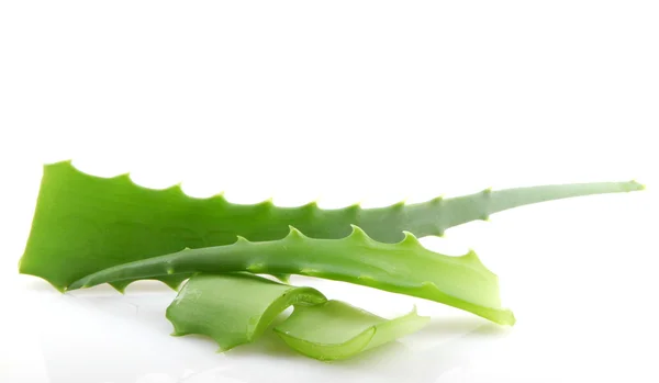
[[[473,251],[450,257],[424,248],[411,233],[379,243],[353,225],[342,239],[317,239],[290,227],[282,239],[187,249],[124,263],[87,275],[68,290],[124,280],[190,273],[300,274],[361,284],[458,307],[502,325],[513,313],[501,306],[499,279]]]

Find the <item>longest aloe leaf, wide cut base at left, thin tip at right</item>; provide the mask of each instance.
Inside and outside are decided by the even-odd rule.
[[[44,166],[36,209],[19,271],[63,291],[72,281],[115,266],[179,251],[249,240],[283,238],[288,226],[313,238],[337,239],[358,225],[382,243],[442,235],[445,229],[490,214],[536,202],[578,195],[639,190],[637,182],[603,182],[485,190],[389,207],[322,210],[315,203],[277,207],[270,201],[232,204],[219,194],[186,195],[179,185],[153,190],[134,184],[129,174],[101,178],[77,170],[70,161]],[[159,275],[177,288],[189,275]],[[120,291],[132,281],[112,283]]]

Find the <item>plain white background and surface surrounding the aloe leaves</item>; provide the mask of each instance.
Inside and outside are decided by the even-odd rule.
[[[3,1],[0,381],[656,382],[659,8],[654,1]],[[538,183],[648,189],[426,238],[472,247],[517,325],[294,279],[431,325],[344,363],[269,337],[169,337],[175,293],[59,294],[18,275],[44,162],[191,195],[321,206]]]

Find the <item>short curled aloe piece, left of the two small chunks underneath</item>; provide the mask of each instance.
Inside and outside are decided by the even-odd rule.
[[[175,336],[201,334],[221,350],[256,340],[291,305],[324,303],[312,288],[297,288],[248,273],[192,275],[167,307]]]

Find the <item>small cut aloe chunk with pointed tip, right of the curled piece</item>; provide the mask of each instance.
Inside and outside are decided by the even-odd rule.
[[[295,306],[275,331],[295,351],[319,360],[348,359],[422,329],[429,317],[384,319],[340,301]]]

